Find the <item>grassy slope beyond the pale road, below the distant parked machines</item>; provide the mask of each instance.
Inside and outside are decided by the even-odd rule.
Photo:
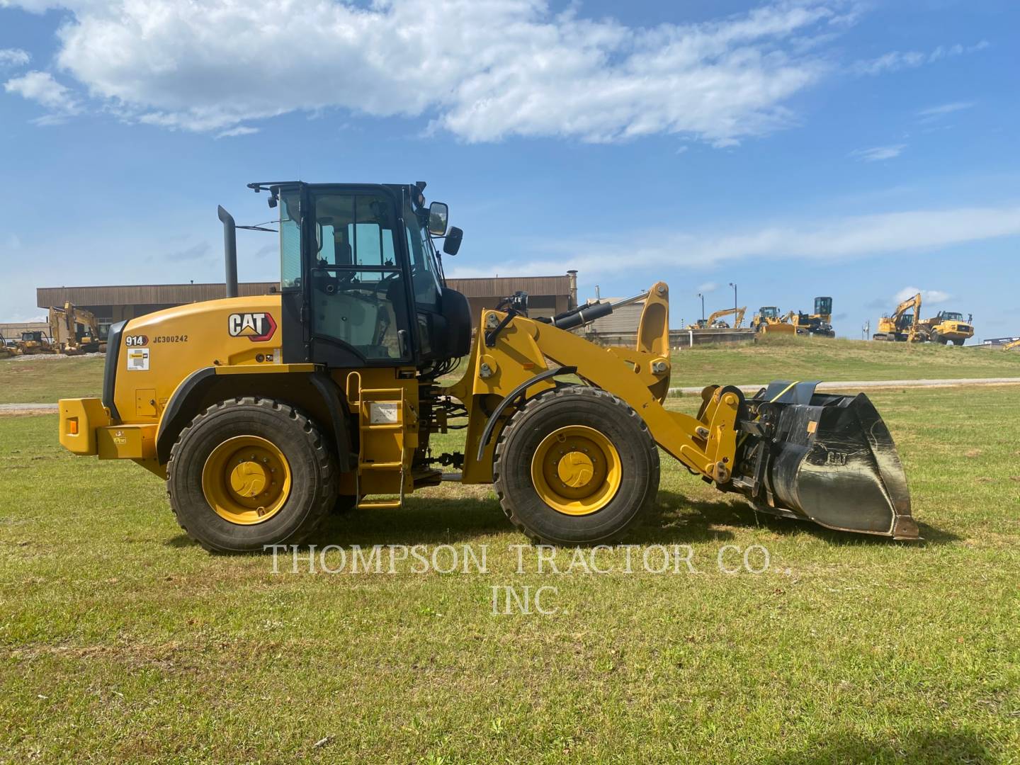
[[[1020,353],[811,338],[696,346],[673,354],[675,387],[755,385],[773,379],[1020,377]],[[0,360],[0,404],[98,396],[101,358]]]

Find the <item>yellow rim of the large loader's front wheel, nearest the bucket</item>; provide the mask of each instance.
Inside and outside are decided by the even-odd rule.
[[[621,472],[616,447],[584,425],[553,430],[531,457],[536,492],[565,515],[590,515],[608,505],[619,491]]]

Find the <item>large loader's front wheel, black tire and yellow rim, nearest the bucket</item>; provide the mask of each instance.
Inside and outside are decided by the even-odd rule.
[[[529,539],[606,543],[655,502],[659,450],[616,396],[564,386],[513,415],[496,445],[493,478],[503,511]]]

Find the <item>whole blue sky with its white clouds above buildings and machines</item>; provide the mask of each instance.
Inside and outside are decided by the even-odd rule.
[[[1018,35],[1006,0],[0,0],[0,320],[220,280],[216,205],[300,177],[425,180],[449,274],[663,278],[673,325],[735,282],[846,337],[911,289],[1018,335]]]

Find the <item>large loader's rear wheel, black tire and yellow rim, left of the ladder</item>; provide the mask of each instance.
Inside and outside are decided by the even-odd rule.
[[[299,544],[337,502],[338,472],[318,428],[270,399],[223,401],[195,417],[170,450],[166,477],[177,523],[210,552]]]

